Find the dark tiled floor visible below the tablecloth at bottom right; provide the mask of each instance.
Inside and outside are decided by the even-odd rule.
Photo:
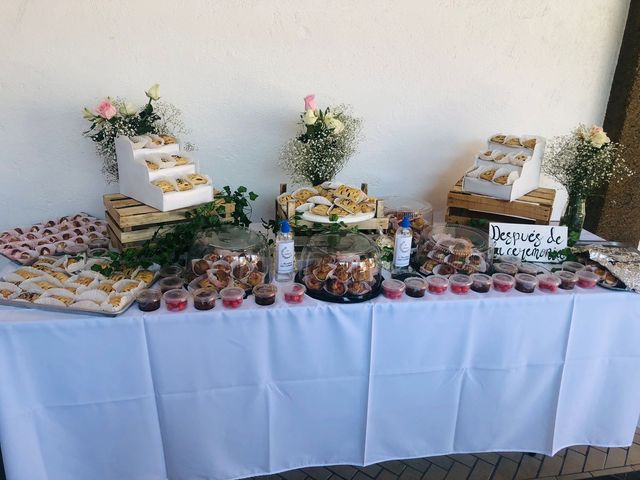
[[[478,453],[394,460],[368,467],[314,467],[251,480],[578,480],[632,478],[640,472],[640,429],[629,448],[578,446],[553,457],[522,453]]]

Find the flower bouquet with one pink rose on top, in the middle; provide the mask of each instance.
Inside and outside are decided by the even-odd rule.
[[[340,105],[317,107],[315,96],[304,99],[303,130],[280,153],[280,165],[294,182],[319,185],[335,179],[356,152],[362,121]]]

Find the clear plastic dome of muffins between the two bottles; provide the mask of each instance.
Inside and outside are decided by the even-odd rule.
[[[330,302],[359,302],[380,293],[380,249],[361,233],[314,235],[302,251],[297,281],[307,294]]]

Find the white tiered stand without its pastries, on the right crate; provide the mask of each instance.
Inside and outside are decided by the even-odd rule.
[[[490,167],[493,169],[508,170],[509,172],[517,171],[520,177],[511,185],[500,185],[489,180],[465,175],[462,181],[462,190],[464,192],[487,195],[501,200],[513,201],[538,188],[540,186],[540,169],[542,167],[542,157],[544,155],[546,140],[543,137],[530,137],[536,139],[533,152],[524,147],[511,147],[501,143],[487,142],[487,150],[501,150],[506,154],[523,153],[525,155],[531,155],[531,158],[527,160],[523,166],[496,163],[492,160],[484,160],[479,156],[475,159],[473,169],[477,167]]]

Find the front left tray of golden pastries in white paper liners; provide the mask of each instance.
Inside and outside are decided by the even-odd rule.
[[[153,284],[157,266],[108,273],[105,257],[86,254],[41,256],[0,277],[0,305],[66,313],[116,317],[135,301],[140,290]]]

